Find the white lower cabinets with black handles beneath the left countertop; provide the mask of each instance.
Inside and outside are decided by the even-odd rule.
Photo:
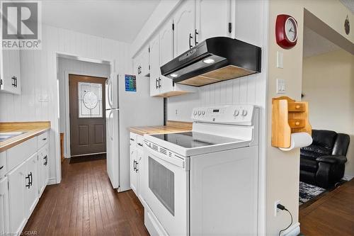
[[[2,232],[21,234],[47,186],[47,133],[39,137],[41,142],[33,137],[0,154],[1,166],[7,167],[4,177],[0,175],[0,235]]]

